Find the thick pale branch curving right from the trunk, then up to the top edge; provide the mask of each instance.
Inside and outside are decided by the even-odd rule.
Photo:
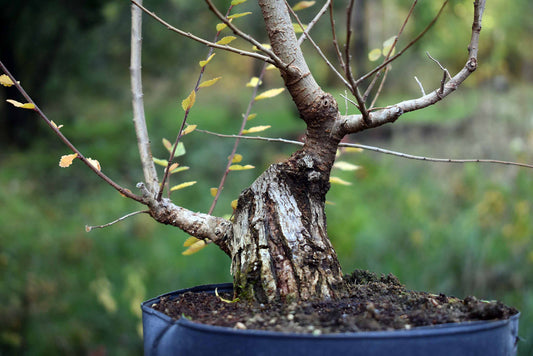
[[[420,110],[444,99],[457,87],[465,81],[468,76],[477,68],[477,48],[479,43],[479,33],[481,31],[481,19],[485,8],[485,0],[476,0],[474,2],[474,20],[472,25],[472,37],[468,46],[468,60],[465,66],[451,78],[443,87],[435,89],[433,92],[417,99],[405,100],[400,103],[388,106],[384,109],[371,112],[369,114],[369,123],[363,120],[362,115],[342,116],[337,122],[335,133],[346,135],[359,132],[371,127],[378,127],[386,123],[396,121],[402,114]],[[394,57],[393,57],[394,58]],[[391,60],[393,59],[391,58]]]

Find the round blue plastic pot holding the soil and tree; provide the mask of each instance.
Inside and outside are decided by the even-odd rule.
[[[167,293],[232,291],[231,284],[205,285]],[[172,320],[152,309],[162,296],[141,305],[145,355],[516,355],[518,318],[420,327],[411,330],[314,336],[203,325]]]

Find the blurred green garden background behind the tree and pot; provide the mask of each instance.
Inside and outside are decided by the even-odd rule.
[[[354,70],[371,68],[367,54],[393,36],[410,1],[365,1],[356,18]],[[226,8],[229,1],[219,1]],[[103,171],[135,191],[142,180],[129,89],[129,3],[0,1],[0,59],[62,132]],[[154,0],[146,4],[170,23],[202,37],[214,36],[216,20],[202,2]],[[345,34],[345,3],[337,1],[339,38]],[[400,41],[405,45],[438,10],[421,2]],[[236,22],[265,41],[253,15]],[[316,7],[316,6],[315,6]],[[316,10],[316,9],[315,9]],[[309,19],[315,10],[301,13]],[[442,73],[425,52],[452,73],[466,60],[471,1],[450,1],[443,17],[412,51],[394,63],[378,105],[416,97],[417,76],[430,91]],[[533,3],[489,0],[480,45],[480,67],[457,93],[394,125],[350,137],[411,154],[533,162]],[[329,20],[313,32],[331,59]],[[229,34],[229,33],[228,33]],[[242,40],[236,46],[249,48]],[[313,50],[304,46],[318,81],[335,93],[344,113],[344,90]],[[162,138],[174,140],[180,103],[193,88],[198,61],[207,50],[144,19],[143,75],[154,156],[166,158]],[[249,100],[245,87],[260,64],[217,52],[189,122],[236,133]],[[269,71],[262,90],[281,86]],[[68,149],[30,112],[0,90],[0,354],[132,355],[142,351],[141,301],[170,290],[231,281],[228,258],[215,247],[182,256],[186,235],[138,215],[85,232],[142,209],[121,197],[79,161],[58,167]],[[272,125],[270,137],[298,138],[304,129],[286,96],[257,102],[248,124]],[[194,132],[183,140],[180,165],[190,170],[172,184],[197,180],[172,195],[177,204],[206,212],[209,188],[218,185],[233,140]],[[232,172],[215,210],[230,202],[268,164],[294,147],[244,141],[238,152],[252,171]],[[520,354],[533,353],[533,171],[487,164],[443,164],[364,151],[339,158],[362,168],[333,175],[352,183],[333,185],[328,230],[345,272],[366,268],[396,274],[410,289],[458,297],[499,299],[522,312]],[[161,175],[161,171],[160,171]]]

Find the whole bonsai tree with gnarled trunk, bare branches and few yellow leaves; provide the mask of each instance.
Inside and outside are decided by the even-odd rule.
[[[311,37],[314,24],[328,10],[332,13],[332,1],[326,1],[315,18],[304,25],[295,11],[314,2],[302,1],[291,8],[284,0],[258,0],[269,45],[261,44],[238,27],[238,17],[247,13],[238,13],[233,9],[242,2],[244,0],[233,0],[227,13],[223,14],[211,0],[206,0],[207,6],[220,21],[217,25],[216,38],[210,41],[173,27],[143,7],[140,0],[132,0],[133,110],[144,172],[144,182],[137,185],[137,193],[134,193],[134,189],[130,190],[115,183],[103,173],[97,161],[86,158],[68,141],[60,128],[32,101],[8,68],[0,63],[3,72],[6,73],[2,83],[15,85],[27,99],[27,103],[11,101],[14,105],[35,110],[73,151],[73,154],[62,158],[60,165],[68,166],[75,158],[82,160],[121,194],[144,205],[146,209],[143,212],[154,220],[185,231],[198,239],[200,244],[213,243],[224,251],[232,261],[231,272],[237,296],[261,302],[336,298],[344,287],[343,272],[337,254],[328,239],[325,202],[326,193],[330,188],[330,172],[341,142],[350,134],[394,123],[402,114],[424,109],[447,98],[455,91],[478,67],[478,43],[485,1],[474,1],[470,42],[459,44],[466,49],[464,67],[452,75],[435,60],[443,72],[442,79],[438,78],[440,80],[438,87],[427,93],[422,88],[420,97],[391,103],[386,107],[375,107],[374,104],[391,63],[428,32],[447,2],[444,2],[439,13],[418,36],[399,49],[398,40],[417,3],[414,1],[398,34],[384,49],[384,60],[359,78],[356,78],[352,69],[350,46],[351,18],[356,10],[354,0],[348,1],[346,10],[347,35],[344,47],[338,45],[335,23],[331,16],[333,30],[331,43],[337,54],[338,65],[326,59]],[[151,154],[142,102],[140,29],[143,12],[168,29],[209,47],[209,53],[201,63],[198,84],[182,102],[185,111],[184,120],[174,144],[169,144],[170,157],[165,162],[165,172],[161,179],[157,175]],[[299,38],[295,29],[302,33]],[[221,31],[228,30],[233,32],[233,35],[222,37]],[[255,46],[256,51],[232,47],[231,41],[236,37]],[[301,49],[301,43],[306,40],[318,51],[336,78],[347,88],[351,98],[346,100],[357,108],[358,114],[341,114],[334,97],[317,83]],[[213,216],[211,214],[213,209],[209,213],[193,212],[165,197],[165,191],[169,189],[169,176],[176,169],[174,161],[179,150],[180,138],[193,129],[187,126],[186,120],[190,110],[194,109],[196,94],[202,86],[214,84],[216,81],[201,81],[204,68],[212,59],[214,50],[234,52],[236,55],[261,61],[265,66],[274,66],[283,79],[285,89],[292,98],[300,119],[306,124],[301,148],[284,162],[272,164],[251,186],[244,189],[230,219]],[[257,93],[259,79],[257,78],[254,84],[256,89],[254,95]],[[370,100],[371,93],[374,96],[373,100]],[[276,92],[264,93],[265,96],[274,94]],[[257,99],[257,96],[254,96],[254,99]],[[245,119],[248,115],[249,110]],[[246,120],[243,122],[243,128],[245,122]],[[242,129],[239,134],[242,134]],[[229,158],[228,169],[234,157],[235,150]],[[221,189],[216,192],[217,197],[220,191]]]

